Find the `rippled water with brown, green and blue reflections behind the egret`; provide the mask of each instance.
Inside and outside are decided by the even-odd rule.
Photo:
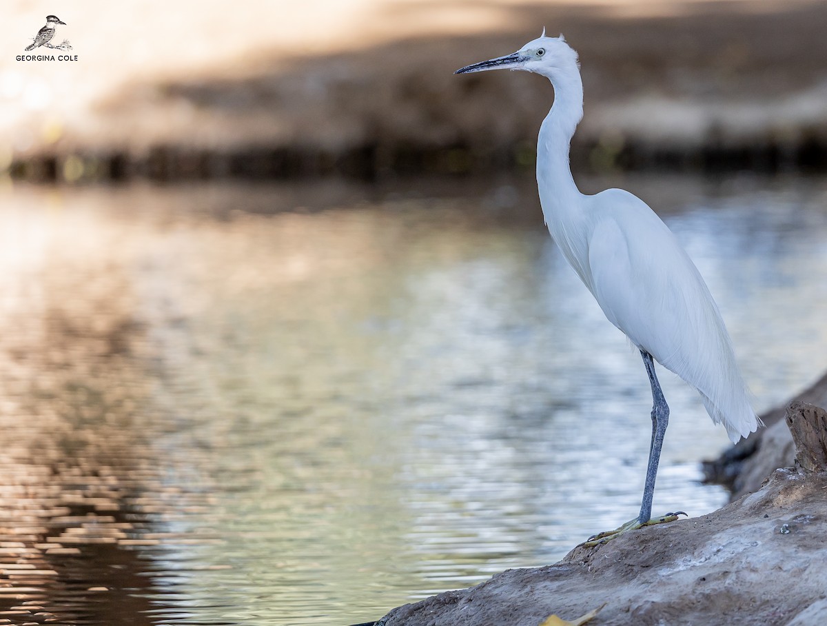
[[[827,369],[827,185],[623,184],[695,258],[759,410]],[[0,623],[350,624],[632,518],[646,376],[535,194],[3,192]],[[705,514],[727,440],[662,380],[655,509]]]

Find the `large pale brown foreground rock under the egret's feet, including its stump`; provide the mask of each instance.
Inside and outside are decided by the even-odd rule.
[[[594,624],[825,624],[827,412],[793,404],[787,421],[799,465],[773,471],[756,493],[700,518],[575,547],[554,565],[405,604],[376,624],[538,626],[604,603]]]

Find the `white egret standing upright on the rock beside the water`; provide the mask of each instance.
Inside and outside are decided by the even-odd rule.
[[[694,387],[714,423],[733,442],[761,421],[748,400],[729,333],[695,264],[666,224],[640,198],[623,189],[581,194],[571,177],[569,145],[583,117],[583,83],[577,53],[563,36],[529,41],[514,54],[457,69],[522,69],[551,80],[554,103],[540,127],[537,183],[549,232],[563,256],[600,304],[609,322],[637,346],[652,386],[652,440],[638,517],[590,538],[673,521],[652,518],[652,498],[669,421],[669,407],[653,359]]]

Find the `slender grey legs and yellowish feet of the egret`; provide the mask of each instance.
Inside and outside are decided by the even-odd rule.
[[[647,351],[641,350],[640,356],[643,357],[643,366],[646,367],[646,373],[649,376],[649,385],[652,385],[652,439],[649,442],[649,461],[646,466],[646,483],[643,487],[643,502],[640,505],[640,514],[638,514],[637,518],[624,523],[620,528],[590,537],[589,541],[584,544],[586,546],[596,546],[599,543],[605,543],[609,541],[609,539],[613,539],[622,533],[643,528],[643,526],[674,522],[678,515],[686,515],[683,511],[676,511],[675,513],[667,513],[658,518],[651,517],[652,499],[655,494],[655,478],[657,478],[657,464],[661,460],[663,437],[667,433],[667,425],[669,424],[669,406],[667,405],[666,398],[663,397],[661,385],[657,382],[655,363],[652,355]]]

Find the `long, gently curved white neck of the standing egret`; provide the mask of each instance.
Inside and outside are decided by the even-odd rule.
[[[571,136],[583,117],[583,82],[576,67],[549,76],[554,86],[554,104],[548,112],[537,142],[537,180],[543,213],[561,203],[571,206],[580,191],[571,177]]]

